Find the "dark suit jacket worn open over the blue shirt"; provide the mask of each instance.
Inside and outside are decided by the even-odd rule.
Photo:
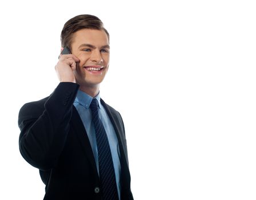
[[[50,97],[26,103],[19,111],[19,150],[40,170],[48,199],[101,199],[101,185],[86,130],[73,106],[78,85],[60,83]],[[121,199],[133,199],[127,144],[121,115],[102,105],[115,128],[120,148]]]

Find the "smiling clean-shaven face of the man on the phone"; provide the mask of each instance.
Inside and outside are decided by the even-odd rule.
[[[72,54],[80,59],[74,75],[81,87],[103,81],[109,65],[109,42],[104,30],[81,29],[73,35]]]

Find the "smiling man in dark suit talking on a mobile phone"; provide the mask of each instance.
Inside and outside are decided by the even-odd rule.
[[[99,18],[78,15],[65,23],[61,45],[70,54],[55,67],[59,85],[19,111],[19,150],[40,170],[45,200],[133,199],[123,121],[99,95],[108,31]]]

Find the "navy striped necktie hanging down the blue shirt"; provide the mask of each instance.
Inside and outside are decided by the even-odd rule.
[[[92,121],[94,123],[96,133],[103,199],[118,200],[119,197],[117,194],[116,176],[111,150],[109,147],[106,131],[104,129],[103,123],[99,118],[97,99],[92,99],[92,103],[90,103],[90,109],[92,110]]]

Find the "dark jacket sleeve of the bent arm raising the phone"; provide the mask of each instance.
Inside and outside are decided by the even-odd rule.
[[[19,150],[40,170],[52,169],[64,149],[79,85],[62,82],[47,101],[26,103],[19,111]]]

